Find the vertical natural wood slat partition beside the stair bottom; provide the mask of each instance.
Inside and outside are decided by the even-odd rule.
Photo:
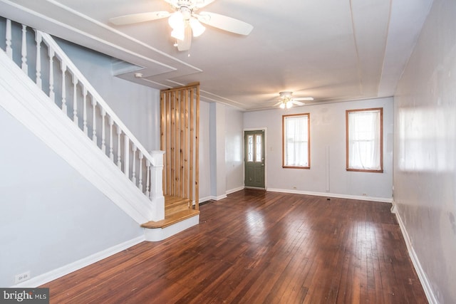
[[[195,201],[199,209],[199,83],[160,90],[160,129],[163,194]]]

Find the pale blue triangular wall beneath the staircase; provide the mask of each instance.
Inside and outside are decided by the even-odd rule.
[[[0,108],[0,286],[142,235],[128,215]]]

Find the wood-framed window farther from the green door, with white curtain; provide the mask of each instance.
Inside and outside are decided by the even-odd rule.
[[[346,111],[348,171],[383,172],[383,108]]]

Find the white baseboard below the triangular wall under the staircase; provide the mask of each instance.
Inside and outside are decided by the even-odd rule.
[[[36,288],[40,285],[43,285],[43,284],[46,284],[53,280],[56,280],[57,278],[66,276],[68,273],[72,273],[73,271],[78,271],[79,269],[89,266],[90,264],[101,261],[101,260],[103,260],[103,258],[108,258],[109,256],[113,256],[115,253],[119,253],[120,251],[123,251],[132,246],[135,246],[138,243],[141,243],[142,241],[145,241],[145,237],[138,236],[135,239],[132,239],[130,241],[125,241],[123,243],[120,243],[116,246],[107,248],[98,253],[94,253],[93,255],[88,256],[87,258],[82,258],[79,261],[69,263],[66,266],[62,266],[60,268],[54,269],[53,271],[49,271],[48,273],[43,273],[40,276],[36,276],[35,278],[31,278],[28,281],[24,281],[23,283],[19,283],[19,284],[13,285],[11,287],[12,288],[18,288],[18,287],[19,288]]]

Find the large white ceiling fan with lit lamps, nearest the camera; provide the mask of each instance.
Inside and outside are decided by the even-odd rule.
[[[187,51],[192,43],[192,35],[197,37],[206,29],[201,23],[224,31],[247,36],[253,26],[228,16],[201,11],[204,6],[211,4],[214,0],[165,0],[170,4],[172,12],[150,11],[147,13],[130,14],[109,19],[115,25],[139,23],[170,17],[168,23],[172,28],[171,36],[176,38],[177,49]]]

